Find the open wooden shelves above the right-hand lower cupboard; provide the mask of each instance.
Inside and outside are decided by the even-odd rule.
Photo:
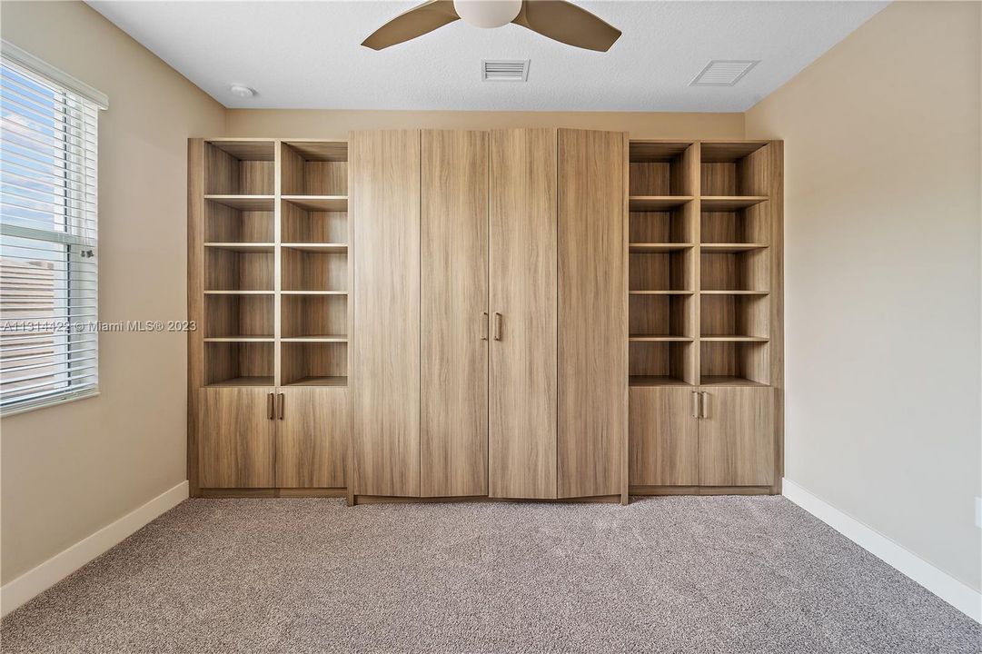
[[[631,386],[773,383],[770,141],[631,140]]]

